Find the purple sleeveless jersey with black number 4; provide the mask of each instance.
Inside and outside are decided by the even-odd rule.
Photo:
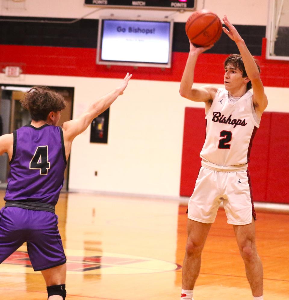
[[[13,155],[4,200],[55,205],[67,164],[61,127],[26,125],[14,131],[13,136]]]

